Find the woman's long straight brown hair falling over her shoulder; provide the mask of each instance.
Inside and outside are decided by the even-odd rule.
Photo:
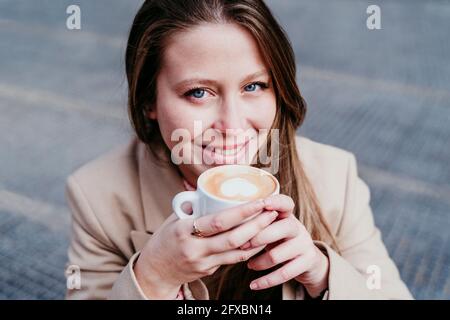
[[[257,41],[269,67],[277,98],[272,128],[279,129],[279,170],[276,177],[280,181],[280,191],[294,200],[295,216],[305,225],[312,239],[322,240],[337,249],[295,145],[296,130],[305,119],[306,103],[296,84],[294,52],[284,30],[262,0],[144,2],[131,27],[126,51],[129,116],[139,139],[154,155],[160,154],[160,150],[169,152],[158,123],[146,114],[155,105],[156,81],[168,38],[201,23],[236,23],[245,27]],[[270,152],[270,141],[268,143]],[[249,270],[245,263],[223,266],[219,270],[216,272],[219,277],[214,281],[216,295],[212,298],[281,297],[281,286],[250,291],[250,281],[261,272]]]

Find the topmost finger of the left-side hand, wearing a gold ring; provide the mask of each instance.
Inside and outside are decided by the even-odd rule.
[[[245,219],[261,213],[263,208],[264,201],[256,200],[198,218],[195,223],[202,234],[211,236],[236,227]]]

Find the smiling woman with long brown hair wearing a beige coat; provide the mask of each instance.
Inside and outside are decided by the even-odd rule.
[[[145,1],[126,72],[137,139],[68,179],[69,263],[83,284],[68,298],[410,298],[354,156],[296,137],[306,104],[295,57],[263,1]],[[180,128],[192,137],[186,153],[212,163],[170,161]],[[207,130],[223,143],[205,148],[197,138]],[[243,131],[264,143],[236,143]],[[242,149],[247,165],[261,167],[250,160],[264,148],[278,148],[279,195],[195,220],[172,214],[172,198],[195,189],[201,173]],[[377,290],[366,285],[374,265]]]

